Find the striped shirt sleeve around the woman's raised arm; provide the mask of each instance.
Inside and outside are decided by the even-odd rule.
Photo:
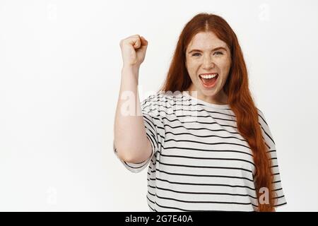
[[[157,95],[151,95],[141,102],[143,124],[145,125],[146,136],[151,142],[152,147],[151,157],[139,163],[125,162],[118,157],[116,147],[113,143],[114,154],[130,172],[141,172],[149,165],[149,162],[151,162],[151,165],[155,165],[156,153],[160,151],[164,137],[163,121],[160,117],[160,111],[158,111],[159,106]]]

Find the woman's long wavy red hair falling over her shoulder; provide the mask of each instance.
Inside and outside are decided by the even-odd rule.
[[[199,32],[210,31],[214,32],[220,40],[228,44],[230,49],[231,66],[223,90],[228,95],[228,105],[230,105],[232,112],[235,113],[237,130],[245,138],[253,153],[255,165],[254,184],[258,200],[261,196],[259,189],[269,189],[269,204],[259,203],[258,210],[272,211],[274,194],[271,159],[261,133],[257,107],[249,91],[247,67],[240,44],[237,41],[235,32],[222,17],[214,14],[199,13],[192,20],[189,20],[179,35],[170,69],[167,73],[165,83],[160,90],[165,92],[182,92],[189,88],[192,81],[185,66],[185,51],[194,35]]]

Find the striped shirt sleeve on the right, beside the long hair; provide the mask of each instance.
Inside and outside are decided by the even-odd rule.
[[[261,126],[262,135],[265,141],[266,146],[269,148],[269,154],[271,157],[271,169],[273,173],[273,190],[274,190],[274,206],[283,206],[287,204],[285,195],[283,193],[283,186],[281,182],[281,174],[279,173],[278,168],[278,159],[276,153],[276,144],[273,140],[273,136],[269,129],[269,125],[266,122],[263,112],[258,109],[259,112],[259,124]]]

